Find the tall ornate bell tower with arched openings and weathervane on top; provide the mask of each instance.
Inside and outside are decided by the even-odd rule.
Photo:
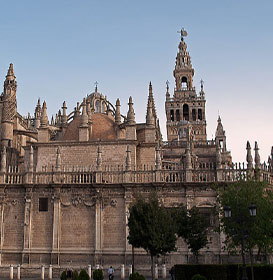
[[[181,34],[181,40],[173,71],[175,79],[173,97],[169,93],[169,83],[167,82],[165,101],[167,137],[168,141],[187,141],[187,132],[191,131],[194,140],[206,141],[204,84],[201,80],[201,90],[199,94],[196,94],[193,86],[194,69],[184,40],[187,32],[182,28],[179,33]]]

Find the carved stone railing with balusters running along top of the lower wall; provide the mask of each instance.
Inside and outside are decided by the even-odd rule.
[[[243,167],[243,168],[242,168]],[[234,182],[238,178],[247,178],[259,174],[261,181],[273,185],[273,172],[268,168],[248,170],[245,166],[233,165],[221,169],[181,169],[174,166],[172,169],[133,169],[112,170],[102,168],[100,170],[79,168],[78,170],[63,169],[56,171],[21,172],[18,168],[8,168],[6,172],[0,172],[0,184],[123,184],[123,183],[183,183],[183,182]]]

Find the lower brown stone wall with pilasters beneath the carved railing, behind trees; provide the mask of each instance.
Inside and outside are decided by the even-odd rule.
[[[4,205],[2,265],[129,264],[131,246],[126,224],[128,208],[136,193],[148,197],[156,190],[167,207],[183,203],[187,207],[211,209],[215,202],[215,193],[206,183],[9,185],[8,190],[1,185],[0,188],[5,193],[1,204]],[[39,208],[40,198],[48,199],[46,211]],[[209,241],[210,248],[204,252],[219,254],[219,236],[212,232]],[[177,248],[177,252],[166,257],[169,264],[187,261],[189,252],[182,240]],[[146,252],[136,249],[136,264],[148,263]]]

